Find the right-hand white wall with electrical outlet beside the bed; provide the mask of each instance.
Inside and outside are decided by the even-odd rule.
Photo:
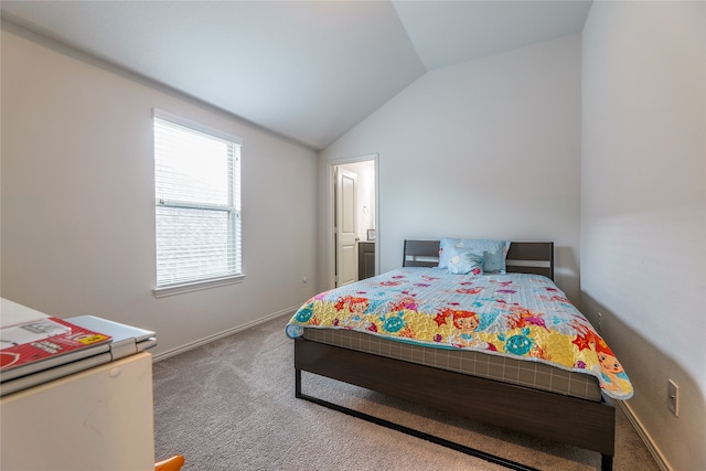
[[[584,29],[585,312],[675,470],[706,465],[705,23],[704,2],[595,2]]]

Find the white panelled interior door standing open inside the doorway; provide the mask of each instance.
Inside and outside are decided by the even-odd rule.
[[[336,168],[335,286],[357,281],[357,175]]]

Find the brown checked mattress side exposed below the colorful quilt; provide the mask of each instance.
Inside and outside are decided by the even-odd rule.
[[[471,350],[432,349],[387,340],[354,330],[304,328],[303,338],[319,343],[517,386],[581,399],[601,400],[601,389],[595,376],[569,372],[544,363],[489,355]]]

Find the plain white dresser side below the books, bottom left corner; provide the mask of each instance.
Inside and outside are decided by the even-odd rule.
[[[152,355],[4,395],[0,428],[2,471],[153,470]]]

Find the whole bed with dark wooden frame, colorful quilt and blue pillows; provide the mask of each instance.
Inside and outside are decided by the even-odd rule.
[[[488,251],[479,259],[460,250],[453,254],[466,257],[463,270],[448,275],[458,268],[443,251],[452,242],[441,239],[440,254],[439,240],[406,240],[400,269],[308,300],[287,325],[296,396],[511,469],[532,469],[303,394],[306,371],[597,451],[601,469],[612,469],[611,398],[629,398],[632,386],[621,367],[603,372],[599,357],[619,363],[554,285],[554,244],[506,242],[500,272],[484,270]],[[575,345],[568,346],[578,356],[547,346],[561,342]]]

